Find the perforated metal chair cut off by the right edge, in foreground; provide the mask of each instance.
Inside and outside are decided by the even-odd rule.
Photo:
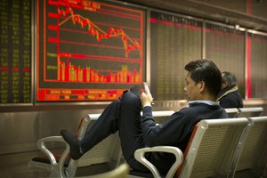
[[[248,117],[250,128],[245,138],[240,138],[240,149],[235,150],[229,177],[250,170],[255,177],[263,176],[267,169],[267,117]],[[242,141],[243,140],[243,141]]]

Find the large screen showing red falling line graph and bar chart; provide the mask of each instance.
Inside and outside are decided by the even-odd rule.
[[[37,1],[36,101],[110,101],[144,80],[144,11]]]

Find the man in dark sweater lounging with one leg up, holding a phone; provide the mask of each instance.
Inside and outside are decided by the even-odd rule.
[[[190,61],[185,69],[188,74],[184,91],[190,107],[175,112],[166,122],[156,125],[152,116],[151,94],[148,91],[140,94],[138,89],[131,88],[104,109],[83,141],[78,142],[68,131],[61,131],[63,138],[69,143],[71,158],[80,158],[95,144],[118,130],[126,162],[134,170],[145,172],[148,169],[134,159],[135,150],[146,146],[168,145],[184,151],[194,125],[201,119],[228,117],[216,102],[216,96],[221,90],[222,75],[214,62]],[[163,174],[174,163],[174,155],[168,153],[149,153],[146,158]]]

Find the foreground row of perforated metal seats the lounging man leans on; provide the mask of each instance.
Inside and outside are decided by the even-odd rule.
[[[136,150],[134,156],[150,168],[153,177],[235,177],[248,169],[254,171],[255,177],[261,177],[267,164],[266,135],[267,117],[204,119],[195,126],[187,150],[183,154],[176,151],[176,167],[166,176],[160,175],[144,154],[153,150],[170,152],[170,147]]]

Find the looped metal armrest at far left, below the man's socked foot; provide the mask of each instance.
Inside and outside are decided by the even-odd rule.
[[[59,163],[57,163],[56,158],[54,157],[53,153],[46,148],[45,143],[46,142],[63,142],[66,145],[65,150],[61,154],[61,158],[59,160]],[[49,136],[49,137],[44,137],[42,139],[39,139],[38,142],[36,143],[37,148],[39,150],[42,150],[44,154],[49,158],[50,163],[52,166],[57,166],[59,165],[60,167],[64,166],[64,162],[66,158],[69,156],[69,144],[64,141],[62,136]]]

